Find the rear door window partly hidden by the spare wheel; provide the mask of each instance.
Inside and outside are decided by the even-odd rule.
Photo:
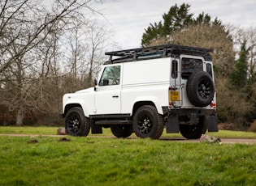
[[[202,60],[183,57],[181,60],[181,77],[184,79],[189,78],[190,74],[201,71]]]

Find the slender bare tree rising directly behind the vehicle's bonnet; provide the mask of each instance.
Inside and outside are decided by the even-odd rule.
[[[96,20],[82,23],[73,28],[66,49],[66,73],[69,71],[69,90],[77,91],[93,86],[100,66],[106,61],[104,52],[114,45],[111,31]]]

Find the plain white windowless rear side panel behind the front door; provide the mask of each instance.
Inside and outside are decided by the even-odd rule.
[[[158,112],[168,105],[170,57],[124,63],[122,113],[132,114],[133,105],[153,102]]]

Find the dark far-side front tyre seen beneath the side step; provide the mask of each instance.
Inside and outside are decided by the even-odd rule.
[[[129,137],[132,135],[132,125],[112,125],[111,132],[115,137]]]

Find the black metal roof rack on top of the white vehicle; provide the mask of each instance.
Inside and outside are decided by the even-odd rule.
[[[177,44],[164,44],[164,45],[157,45],[145,48],[137,48],[137,49],[125,49],[119,50],[114,52],[105,53],[106,55],[110,56],[109,61],[106,63],[115,63],[115,62],[124,62],[124,61],[137,61],[138,57],[143,58],[147,54],[151,54],[154,57],[158,55],[158,57],[167,57],[167,53],[185,53],[190,55],[200,55],[205,57],[206,59],[210,59],[210,52],[213,52],[213,49],[202,49],[196,47],[189,47]],[[117,59],[113,59],[113,57],[119,57]],[[125,59],[132,59],[132,60],[125,60]]]

